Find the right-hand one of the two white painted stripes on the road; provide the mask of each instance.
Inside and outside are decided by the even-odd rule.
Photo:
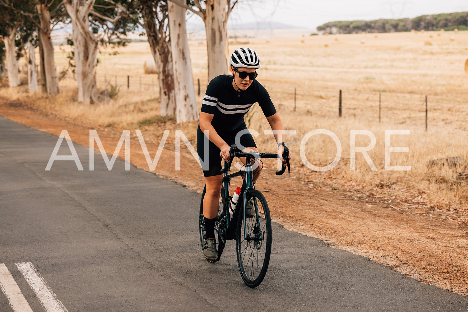
[[[31,262],[15,263],[46,312],[68,312]]]

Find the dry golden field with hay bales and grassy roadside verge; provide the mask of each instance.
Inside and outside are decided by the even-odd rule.
[[[295,198],[291,199],[289,210],[287,206],[273,206],[275,220],[424,282],[468,294],[460,282],[466,280],[468,273],[464,254],[468,223],[468,76],[464,72],[468,31],[249,40],[249,44],[231,42],[230,50],[249,45],[259,53],[262,67],[257,79],[269,91],[286,129],[296,130],[295,135],[286,139],[294,158],[294,175],[288,181],[297,181],[297,192],[303,197],[297,199],[296,195],[290,195]],[[77,89],[71,74],[60,82],[62,94],[51,99],[28,94],[27,86],[1,88],[1,96],[11,103],[21,102],[41,115],[98,129],[98,132],[120,136],[123,129],[132,132],[141,129],[146,141],[156,149],[162,132],[169,129],[172,138],[166,146],[173,150],[172,130],[182,129],[195,146],[197,123],[177,125],[173,120],[156,118],[159,115],[157,76],[143,73],[143,62],[151,59],[148,44],[132,43],[117,55],[102,52],[97,67],[98,87],[109,89],[110,84],[117,82],[120,91],[115,100],[88,107],[75,102]],[[205,42],[191,42],[190,53],[195,89],[197,79],[201,84],[201,94],[197,96],[200,107],[207,84]],[[66,66],[66,52],[56,49],[56,61],[60,71]],[[343,93],[341,118],[338,117],[339,90]],[[425,95],[428,96],[427,131]],[[271,135],[263,134],[268,123],[258,107],[249,112],[247,123],[260,133],[256,138],[259,150],[273,151],[276,144]],[[340,161],[326,172],[312,171],[300,157],[300,143],[314,129],[335,133],[342,145]],[[376,145],[368,154],[377,170],[371,170],[360,153],[356,155],[356,170],[351,170],[351,130],[366,130],[375,135]],[[390,146],[409,148],[409,152],[390,153],[390,165],[411,166],[410,171],[384,170],[386,130],[410,131],[409,135],[392,136],[390,140]],[[358,135],[356,146],[367,146],[370,141],[369,137]],[[336,145],[331,138],[317,135],[307,141],[304,151],[308,162],[326,166],[335,158]],[[190,153],[187,155],[191,157]],[[453,156],[463,158],[456,167],[427,165],[429,160]],[[272,165],[265,166],[268,170]],[[187,185],[199,190],[201,171],[186,174],[183,181],[190,174],[196,176],[193,177],[196,182]],[[275,181],[264,182],[270,194],[282,191],[277,190],[278,185],[274,183],[278,180]],[[317,194],[321,193],[328,194],[335,203],[319,199]],[[360,206],[358,201],[363,201]],[[375,206],[372,211],[366,208],[371,206]],[[355,218],[359,221],[351,222]],[[425,225],[431,229],[430,234]],[[435,234],[439,233],[438,226],[445,230],[442,232],[446,236]],[[455,237],[447,249],[434,243]],[[456,269],[444,267],[449,264]],[[437,268],[433,267],[443,273],[436,273]]]

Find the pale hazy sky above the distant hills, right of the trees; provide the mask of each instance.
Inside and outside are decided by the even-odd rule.
[[[468,0],[240,0],[229,23],[281,22],[315,28],[326,22],[416,17],[468,11]]]

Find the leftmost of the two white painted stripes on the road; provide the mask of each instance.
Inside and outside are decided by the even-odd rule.
[[[15,312],[33,312],[29,306],[28,301],[21,293],[18,284],[11,276],[7,266],[0,263],[0,289],[7,296],[8,302],[10,303],[13,311]]]

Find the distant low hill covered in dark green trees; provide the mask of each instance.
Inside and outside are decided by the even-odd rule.
[[[398,20],[379,19],[373,21],[338,21],[328,22],[318,31],[333,34],[354,34],[365,32],[399,32],[415,30],[468,30],[468,12],[421,15],[415,18]]]

